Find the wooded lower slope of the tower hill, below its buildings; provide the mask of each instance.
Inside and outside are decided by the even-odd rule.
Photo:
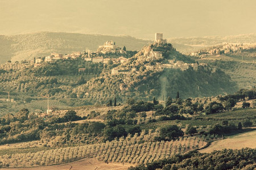
[[[230,88],[232,87],[232,88]],[[185,71],[166,69],[163,72],[144,72],[141,75],[116,75],[91,79],[77,87],[79,94],[87,93],[87,99],[107,101],[117,96],[119,100],[139,97],[151,100],[154,96],[166,100],[168,96],[202,97],[231,93],[236,90],[235,84],[222,71],[212,73],[209,68]],[[117,95],[118,94],[118,95]]]

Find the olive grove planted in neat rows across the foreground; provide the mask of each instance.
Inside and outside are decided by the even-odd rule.
[[[84,158],[97,159],[105,163],[146,164],[168,158],[174,154],[183,154],[189,150],[206,145],[199,137],[183,137],[179,141],[160,141],[154,139],[158,133],[130,135],[119,141],[97,143],[77,147],[64,147],[23,153],[6,153],[0,156],[0,162],[10,167],[35,167],[74,162]]]

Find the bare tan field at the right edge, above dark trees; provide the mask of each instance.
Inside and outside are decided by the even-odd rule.
[[[256,148],[256,130],[236,134],[223,139],[221,141],[213,142],[209,147],[200,150],[200,152],[212,152],[213,150],[222,150],[224,148],[241,149],[244,147]]]

